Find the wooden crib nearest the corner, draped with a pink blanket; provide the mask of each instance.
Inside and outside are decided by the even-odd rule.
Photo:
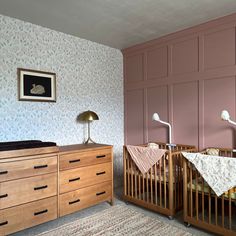
[[[124,195],[125,201],[165,214],[172,218],[183,207],[183,168],[181,151],[195,152],[194,146],[171,147],[156,143],[166,149],[147,173],[142,174],[136,167],[126,146],[124,146]],[[145,145],[140,145],[145,146]]]

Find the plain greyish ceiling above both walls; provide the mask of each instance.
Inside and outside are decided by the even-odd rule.
[[[236,12],[236,0],[0,0],[0,14],[122,49]]]

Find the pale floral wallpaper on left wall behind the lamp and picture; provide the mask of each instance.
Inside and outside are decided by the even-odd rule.
[[[40,139],[82,143],[79,113],[95,111],[91,137],[114,145],[122,173],[122,53],[98,43],[0,15],[0,142]],[[56,73],[56,103],[18,101],[17,68]]]

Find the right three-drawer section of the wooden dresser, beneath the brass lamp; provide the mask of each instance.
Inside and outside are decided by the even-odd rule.
[[[109,201],[113,204],[113,147],[59,147],[59,215]]]

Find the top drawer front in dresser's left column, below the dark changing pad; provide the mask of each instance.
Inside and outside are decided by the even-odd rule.
[[[57,172],[57,156],[0,163],[0,182]]]

